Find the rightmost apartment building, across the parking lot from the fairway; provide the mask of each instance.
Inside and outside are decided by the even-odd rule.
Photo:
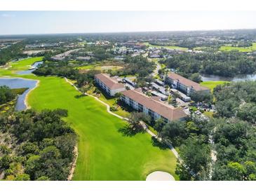
[[[168,74],[166,83],[170,84],[172,88],[184,92],[186,95],[191,95],[193,92],[210,92],[209,88],[203,87],[200,84],[175,73]]]

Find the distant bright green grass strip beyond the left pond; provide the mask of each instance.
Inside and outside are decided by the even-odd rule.
[[[8,69],[0,69],[0,76],[12,76],[18,71],[29,69],[34,62],[39,62],[42,60],[43,57],[30,57],[18,62],[9,62],[6,66]]]

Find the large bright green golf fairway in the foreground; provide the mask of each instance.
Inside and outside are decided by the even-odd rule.
[[[106,112],[92,97],[79,97],[63,78],[27,76],[40,80],[29,94],[32,108],[69,111],[66,121],[79,135],[79,156],[74,180],[144,180],[152,171],[163,170],[175,179],[176,158],[166,149],[152,146],[147,133],[133,137],[119,132],[126,125]]]

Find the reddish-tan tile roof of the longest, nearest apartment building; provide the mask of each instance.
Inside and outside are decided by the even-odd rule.
[[[178,120],[187,116],[183,109],[164,104],[160,100],[157,100],[156,97],[148,97],[138,90],[125,90],[122,92],[122,94],[132,100],[135,100],[135,102],[142,104],[144,107],[155,111],[157,114],[167,118],[170,121]]]

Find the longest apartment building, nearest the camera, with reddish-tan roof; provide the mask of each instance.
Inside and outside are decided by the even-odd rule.
[[[169,121],[182,120],[187,116],[182,108],[175,108],[161,102],[160,97],[148,97],[140,89],[125,90],[121,92],[121,100],[133,107],[136,111],[143,112],[151,116],[154,120],[163,118],[167,123]]]

